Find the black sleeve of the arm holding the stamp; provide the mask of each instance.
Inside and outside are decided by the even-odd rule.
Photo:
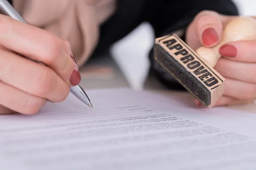
[[[231,0],[151,0],[148,3],[146,20],[153,26],[155,37],[172,34],[177,30],[186,32],[189,23],[201,11],[211,10],[220,14],[238,15],[238,10]],[[180,35],[184,40],[185,34]],[[153,49],[149,54],[151,72],[167,88],[184,90],[174,78],[166,73],[154,60]]]

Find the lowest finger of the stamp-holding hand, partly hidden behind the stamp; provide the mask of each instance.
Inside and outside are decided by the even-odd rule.
[[[213,107],[225,106],[225,105],[242,105],[242,104],[254,103],[254,101],[255,101],[254,99],[240,100],[240,99],[235,99],[229,96],[221,96]],[[195,105],[200,107],[203,106],[197,99],[195,99]]]

